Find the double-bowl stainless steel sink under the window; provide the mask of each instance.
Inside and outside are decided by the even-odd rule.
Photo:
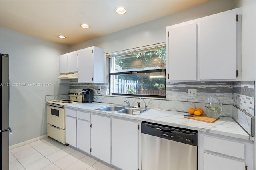
[[[130,115],[140,115],[147,111],[147,109],[133,108],[133,107],[125,107],[120,105],[110,105],[105,107],[100,107],[96,110],[100,111],[110,111],[115,113],[125,113]]]

